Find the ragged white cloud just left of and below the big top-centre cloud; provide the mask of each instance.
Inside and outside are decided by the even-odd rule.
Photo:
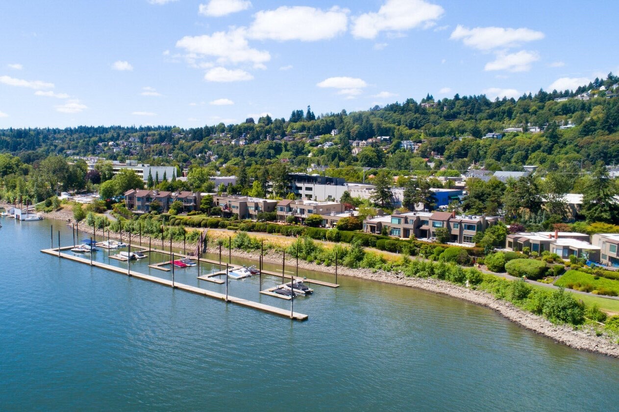
[[[212,35],[184,36],[176,42],[176,47],[189,53],[212,56],[219,64],[228,62],[253,62],[261,64],[271,60],[268,51],[249,47],[245,28],[235,28],[230,32],[215,32]]]

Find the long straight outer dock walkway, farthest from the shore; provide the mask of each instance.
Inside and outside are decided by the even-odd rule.
[[[69,247],[61,247],[61,251],[64,249],[71,249],[72,246]],[[62,253],[58,251],[58,248],[54,248],[54,249],[42,249],[41,252],[49,254],[49,255],[53,255],[53,256],[60,256],[63,257],[64,259],[68,259],[68,260],[73,260],[74,262],[79,262],[82,264],[87,264],[90,265],[90,259],[84,259],[83,257],[78,257],[78,256],[74,256],[74,255],[69,255],[66,253]],[[183,283],[172,283],[171,280],[167,280],[167,279],[163,279],[163,278],[158,278],[155,276],[150,276],[150,275],[146,275],[145,273],[140,273],[140,272],[135,272],[134,270],[131,270],[129,273],[125,268],[121,268],[121,267],[116,267],[116,266],[112,266],[112,265],[108,265],[108,264],[104,264],[102,262],[92,262],[92,265],[95,267],[99,267],[99,268],[103,268],[106,270],[110,270],[111,272],[116,272],[116,273],[121,273],[123,275],[130,275],[131,277],[134,278],[138,278],[138,279],[142,279],[142,280],[147,280],[153,283],[158,283],[159,285],[163,285],[163,286],[168,286],[170,288],[175,288],[175,289],[179,289],[179,290],[183,290],[189,293],[194,293],[194,294],[199,294],[201,296],[207,296],[208,298],[214,298],[214,299],[219,299],[222,301],[226,301],[226,295],[223,293],[217,293],[214,291],[210,291],[210,290],[206,290],[206,289],[202,289],[202,288],[197,288],[196,286],[189,286],[189,285],[184,285]],[[235,296],[230,296],[228,295],[228,302],[230,303],[234,303],[237,304],[239,306],[245,306],[245,307],[251,307],[252,309],[258,309],[259,311],[263,311],[263,312],[267,312],[267,313],[271,313],[271,314],[275,314],[275,315],[280,315],[283,317],[288,317],[290,319],[293,320],[307,320],[308,319],[308,315],[305,314],[301,314],[298,312],[293,312],[292,313],[292,317],[290,315],[290,311],[286,310],[286,309],[281,309],[279,307],[274,307],[274,306],[269,306],[267,304],[263,304],[263,303],[258,303],[258,302],[254,302],[254,301],[248,301],[247,299],[242,299],[242,298],[236,298]]]

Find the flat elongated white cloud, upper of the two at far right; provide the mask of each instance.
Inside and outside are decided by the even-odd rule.
[[[527,41],[541,40],[544,33],[530,28],[475,27],[457,25],[449,36],[451,40],[462,40],[466,46],[488,51],[500,47],[512,47]]]

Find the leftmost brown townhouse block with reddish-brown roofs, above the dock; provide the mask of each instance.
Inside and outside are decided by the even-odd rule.
[[[167,212],[170,209],[171,204],[175,200],[179,200],[183,203],[181,212],[193,212],[198,210],[202,197],[199,193],[195,192],[168,192],[158,190],[142,190],[142,189],[130,189],[124,193],[124,201],[126,207],[129,210],[135,210],[138,213],[149,213],[150,204],[153,200],[157,200],[161,205],[161,212]]]

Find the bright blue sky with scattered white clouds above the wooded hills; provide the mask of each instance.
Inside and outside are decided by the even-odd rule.
[[[0,127],[197,127],[619,72],[608,1],[4,1]]]

